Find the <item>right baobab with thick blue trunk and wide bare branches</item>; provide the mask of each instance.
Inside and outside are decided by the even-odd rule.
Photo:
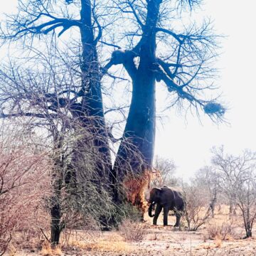
[[[225,112],[215,98],[203,97],[203,92],[213,89],[212,81],[208,83],[208,79],[215,73],[211,63],[216,55],[215,39],[218,37],[211,33],[210,21],[204,21],[199,27],[188,24],[183,32],[174,22],[177,14],[187,6],[192,9],[200,2],[115,1],[115,8],[122,17],[132,20],[126,35],[130,38],[129,46],[134,46],[114,50],[109,63],[109,66],[123,65],[132,79],[132,102],[114,163],[117,183],[122,183],[127,174],[143,176],[151,169],[156,128],[156,82],[166,85],[171,94],[171,106],[178,103],[184,108],[195,107],[196,113],[202,109],[213,119],[221,119]],[[134,193],[139,196],[140,190]]]

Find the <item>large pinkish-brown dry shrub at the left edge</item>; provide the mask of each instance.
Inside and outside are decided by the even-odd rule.
[[[0,142],[0,255],[10,242],[31,247],[41,240],[47,223],[42,201],[49,193],[48,166],[46,154]]]

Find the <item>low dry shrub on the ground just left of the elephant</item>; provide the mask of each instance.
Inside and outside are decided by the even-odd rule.
[[[126,241],[140,242],[146,235],[146,225],[132,220],[124,220],[119,225],[120,235]]]

